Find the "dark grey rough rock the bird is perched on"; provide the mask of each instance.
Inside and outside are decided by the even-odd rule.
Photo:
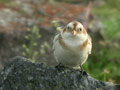
[[[93,79],[86,72],[48,67],[17,56],[0,72],[0,90],[120,90],[120,85]]]

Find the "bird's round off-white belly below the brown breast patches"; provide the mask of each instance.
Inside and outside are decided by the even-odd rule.
[[[54,55],[59,63],[67,67],[76,67],[81,65],[87,58],[84,51],[70,51],[58,46]]]

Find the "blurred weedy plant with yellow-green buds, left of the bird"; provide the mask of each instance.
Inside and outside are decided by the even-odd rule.
[[[22,45],[22,48],[24,49],[22,55],[29,58],[32,62],[35,62],[37,57],[45,55],[46,49],[50,48],[46,41],[42,44],[38,43],[41,37],[39,29],[36,26],[33,26],[32,30],[28,31],[28,34],[25,36],[26,41],[29,43]]]

